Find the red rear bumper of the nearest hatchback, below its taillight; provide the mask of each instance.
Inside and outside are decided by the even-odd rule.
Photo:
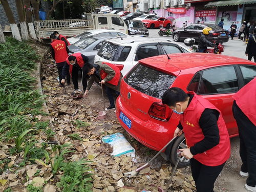
[[[119,118],[120,111],[132,121],[132,127],[129,129],[123,121]],[[143,145],[152,148],[152,150],[160,151],[162,147],[173,138],[174,131],[179,122],[175,119],[176,123],[158,121],[151,118],[144,121],[137,116],[134,116],[129,110],[125,109],[122,105],[120,96],[116,100],[116,117],[122,127],[132,137]]]

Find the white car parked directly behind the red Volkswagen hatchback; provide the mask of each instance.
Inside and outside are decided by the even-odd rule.
[[[123,75],[128,73],[138,60],[156,55],[171,53],[187,53],[187,48],[177,42],[141,36],[126,36],[122,38],[107,39],[94,57],[96,61],[105,61],[113,64],[123,65]],[[172,58],[172,55],[169,55]]]

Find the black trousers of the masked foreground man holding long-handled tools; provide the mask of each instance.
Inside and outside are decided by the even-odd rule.
[[[206,166],[194,158],[189,161],[197,192],[214,192],[214,183],[225,163],[219,166]]]

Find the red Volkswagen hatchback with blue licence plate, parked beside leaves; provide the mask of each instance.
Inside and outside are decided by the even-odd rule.
[[[179,116],[161,103],[171,87],[194,91],[221,110],[230,137],[238,135],[232,114],[232,95],[256,76],[256,63],[210,53],[181,53],[142,59],[121,81],[116,116],[140,143],[160,151],[173,138]],[[175,163],[178,148],[186,148],[184,135],[162,156]],[[181,158],[179,166],[189,161]]]

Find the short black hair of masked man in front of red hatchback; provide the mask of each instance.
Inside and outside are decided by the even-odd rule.
[[[188,95],[180,88],[166,90],[162,97],[162,103],[168,106],[175,106],[177,102],[186,101]]]

